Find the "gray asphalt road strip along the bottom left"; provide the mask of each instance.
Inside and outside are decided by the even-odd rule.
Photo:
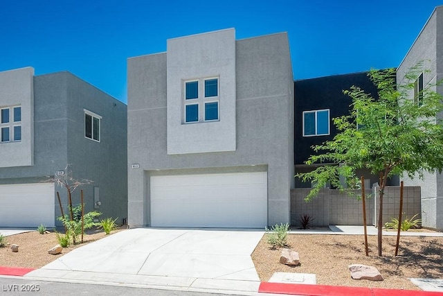
[[[199,293],[178,290],[156,290],[99,284],[73,284],[60,281],[30,281],[17,277],[0,277],[0,295],[143,295],[143,296],[226,296],[226,294]]]

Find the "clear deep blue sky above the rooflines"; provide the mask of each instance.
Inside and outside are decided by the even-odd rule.
[[[173,37],[287,32],[294,79],[397,67],[443,0],[0,0],[0,71],[71,71],[127,103],[126,60]]]

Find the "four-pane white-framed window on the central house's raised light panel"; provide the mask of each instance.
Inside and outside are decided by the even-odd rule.
[[[184,82],[183,122],[219,121],[219,78]]]

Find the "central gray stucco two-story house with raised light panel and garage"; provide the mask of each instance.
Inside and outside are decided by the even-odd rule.
[[[228,29],[130,58],[130,227],[290,221],[293,74],[286,33]]]

